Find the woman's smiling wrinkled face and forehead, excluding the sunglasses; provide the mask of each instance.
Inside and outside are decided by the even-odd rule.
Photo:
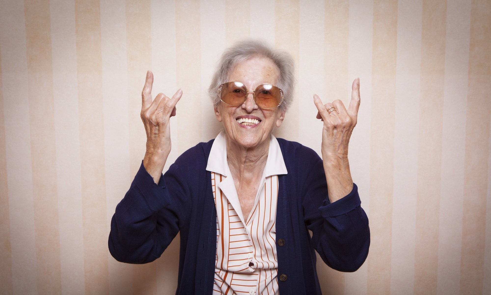
[[[261,84],[277,86],[278,77],[279,71],[270,59],[253,58],[238,63],[227,82],[242,82],[248,90],[254,90]],[[228,139],[243,148],[256,148],[268,143],[274,126],[279,127],[285,116],[279,107],[271,110],[259,108],[252,92],[248,92],[246,101],[237,107],[220,101],[215,115],[223,123]]]

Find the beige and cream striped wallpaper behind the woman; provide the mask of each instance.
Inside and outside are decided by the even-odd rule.
[[[109,255],[145,150],[145,72],[184,95],[167,166],[220,130],[206,91],[234,41],[290,52],[277,137],[320,151],[312,94],[361,107],[350,160],[372,233],[326,294],[491,294],[490,0],[0,0],[0,294],[174,294],[162,258]],[[488,213],[488,214],[487,214]]]

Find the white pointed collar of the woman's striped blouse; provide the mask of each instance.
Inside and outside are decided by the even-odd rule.
[[[230,176],[230,169],[228,168],[227,162],[227,141],[223,131],[218,134],[213,142],[210,155],[208,156],[206,170],[219,173],[225,177]],[[269,177],[282,174],[288,174],[288,171],[286,170],[285,161],[283,160],[283,154],[281,153],[278,141],[271,135],[268,159],[266,160],[263,175],[264,177]]]

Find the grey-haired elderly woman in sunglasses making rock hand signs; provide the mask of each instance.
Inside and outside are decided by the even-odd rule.
[[[169,119],[183,92],[152,100],[147,73],[146,153],[112,218],[109,250],[116,260],[154,261],[180,233],[176,294],[185,295],[321,294],[314,249],[340,271],[363,264],[368,219],[348,163],[359,81],[348,109],[314,95],[324,121],[321,159],[272,135],[292,100],[293,68],[288,54],[258,41],[226,50],[209,89],[224,130],[184,152],[164,176]]]

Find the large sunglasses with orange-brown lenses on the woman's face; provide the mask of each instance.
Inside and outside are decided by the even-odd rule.
[[[243,104],[248,92],[252,92],[256,105],[263,110],[274,109],[283,101],[283,90],[270,84],[259,85],[256,90],[247,90],[241,82],[227,82],[218,87],[220,100],[232,107]]]

